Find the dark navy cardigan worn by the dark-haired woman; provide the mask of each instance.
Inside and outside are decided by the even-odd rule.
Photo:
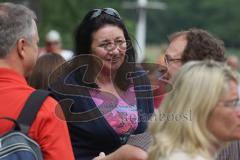
[[[132,134],[140,134],[147,129],[148,120],[151,118],[154,111],[153,95],[149,79],[145,75],[142,76],[142,74],[141,76],[138,76],[138,73],[140,73],[139,71],[142,71],[142,69],[137,69],[136,77],[139,78],[133,79],[134,88],[131,90],[131,92],[134,92],[135,94],[138,112],[137,128]],[[56,87],[58,87],[58,85],[60,86],[60,90],[63,89],[61,92],[56,92],[54,88],[52,90],[54,97],[59,101],[64,99],[71,99],[74,101],[71,107],[71,112],[73,113],[85,113],[86,111],[96,110],[99,108],[99,106],[96,106],[92,99],[93,96],[90,94],[90,92],[94,90],[94,87],[88,86],[85,82],[83,82],[82,75],[84,73],[84,69],[79,69],[76,72],[73,72],[67,78],[64,77],[62,80],[60,79],[60,83],[56,84]],[[63,86],[62,82],[68,85]],[[95,89],[95,91],[100,93],[99,89]],[[103,101],[101,104],[101,106],[106,106],[102,107],[105,108],[104,111],[99,110],[95,112],[98,116],[101,113],[106,114],[112,111],[112,109],[116,107],[115,104],[118,104],[118,99],[114,95],[111,96],[109,93],[107,94],[107,92],[103,95],[96,95],[95,97],[107,100]],[[128,103],[130,96],[121,96],[121,98]],[[95,115],[91,114],[90,116],[94,117]],[[68,122],[68,129],[76,159],[93,159],[98,156],[100,152],[110,154],[122,145],[126,144],[128,136],[130,136],[128,134],[117,134],[106,121],[105,117],[102,116],[90,121]]]

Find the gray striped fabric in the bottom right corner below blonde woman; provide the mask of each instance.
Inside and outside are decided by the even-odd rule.
[[[240,160],[240,141],[234,141],[223,148],[216,160]]]

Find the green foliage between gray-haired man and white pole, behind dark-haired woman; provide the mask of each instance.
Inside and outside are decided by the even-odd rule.
[[[84,15],[91,9],[105,7],[116,8],[120,14],[123,12],[119,1],[41,0],[39,15],[40,44],[43,45],[44,36],[50,29],[56,29],[61,33],[64,47],[72,48],[75,28],[81,22]],[[129,30],[134,30],[132,21],[126,20],[126,25]]]

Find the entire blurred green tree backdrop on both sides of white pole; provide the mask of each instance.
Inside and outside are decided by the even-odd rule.
[[[122,7],[124,1],[136,0],[0,0],[0,2],[23,3],[36,11],[39,18],[40,46],[43,46],[45,34],[50,29],[56,29],[61,33],[64,47],[68,49],[73,47],[72,37],[76,26],[93,8],[117,9],[134,37],[137,11],[124,9]],[[157,56],[160,52],[160,44],[167,42],[169,34],[192,27],[208,30],[222,39],[230,51],[238,53],[240,48],[239,0],[149,1],[164,2],[167,9],[147,12],[147,55],[157,52],[153,53]],[[151,59],[155,58],[152,57],[150,56]]]

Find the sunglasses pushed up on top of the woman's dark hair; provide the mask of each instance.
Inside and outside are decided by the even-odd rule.
[[[92,16],[90,17],[90,19],[97,18],[102,13],[113,16],[117,19],[121,19],[119,13],[113,8],[93,9]]]

